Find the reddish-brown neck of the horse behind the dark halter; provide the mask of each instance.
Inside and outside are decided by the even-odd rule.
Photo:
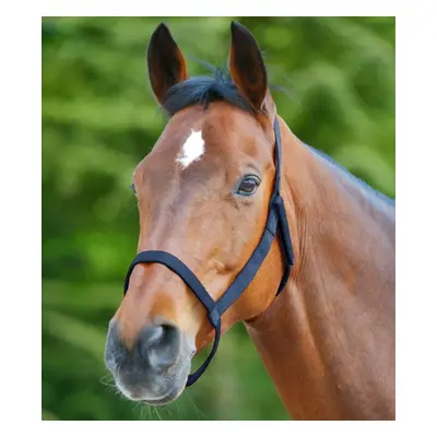
[[[394,415],[394,209],[282,122],[296,264],[246,327],[294,418]]]

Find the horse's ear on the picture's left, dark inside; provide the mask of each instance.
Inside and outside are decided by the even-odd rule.
[[[149,43],[147,69],[152,90],[160,105],[168,88],[188,79],[184,55],[164,23],[156,27]]]

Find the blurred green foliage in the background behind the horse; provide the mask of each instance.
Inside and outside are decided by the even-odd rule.
[[[273,95],[297,137],[394,196],[394,19],[236,19],[287,91]],[[144,59],[161,21],[189,59],[227,61],[231,17],[43,19],[43,418],[286,420],[241,324],[165,409],[122,399],[104,367],[137,249],[131,175],[165,126]]]

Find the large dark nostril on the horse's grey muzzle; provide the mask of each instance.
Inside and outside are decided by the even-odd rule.
[[[180,331],[176,327],[150,324],[140,334],[140,354],[157,371],[175,364],[179,349]]]

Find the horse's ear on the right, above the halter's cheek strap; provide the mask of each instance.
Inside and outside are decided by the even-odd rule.
[[[231,76],[253,109],[262,111],[269,84],[261,51],[253,35],[241,24],[233,21],[231,33]]]

